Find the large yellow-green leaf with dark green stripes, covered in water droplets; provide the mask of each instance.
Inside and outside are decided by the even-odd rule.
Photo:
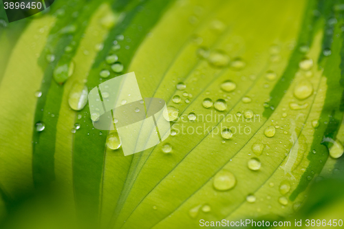
[[[1,206],[53,191],[84,226],[102,228],[293,215],[310,184],[343,177],[337,3],[56,3],[27,25],[1,81]],[[124,156],[88,105],[70,104],[128,72],[142,98],[162,98],[178,119],[164,142]]]

